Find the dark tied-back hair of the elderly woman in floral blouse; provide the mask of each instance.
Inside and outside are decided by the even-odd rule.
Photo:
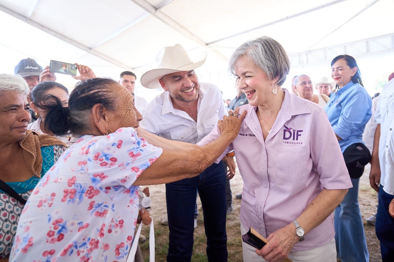
[[[113,85],[119,83],[110,78],[93,78],[83,81],[72,90],[69,107],[63,107],[56,96],[46,100],[41,108],[48,110],[45,116],[45,128],[54,135],[71,133],[76,136],[87,135],[91,129],[89,118],[93,105],[101,104],[107,109],[115,110]]]

